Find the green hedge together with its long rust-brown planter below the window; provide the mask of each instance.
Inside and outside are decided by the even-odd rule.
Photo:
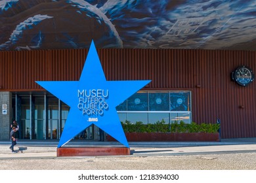
[[[165,124],[164,120],[155,124],[129,121],[121,122],[127,141],[219,141],[219,124],[186,124],[174,122]],[[108,141],[114,139],[108,136]]]

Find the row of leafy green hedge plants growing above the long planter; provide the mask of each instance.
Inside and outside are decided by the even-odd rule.
[[[173,122],[172,124],[166,124],[164,120],[156,122],[155,124],[143,124],[142,122],[136,122],[132,124],[129,121],[121,122],[123,130],[125,132],[171,132],[171,133],[217,133],[219,124],[185,124],[184,122]]]

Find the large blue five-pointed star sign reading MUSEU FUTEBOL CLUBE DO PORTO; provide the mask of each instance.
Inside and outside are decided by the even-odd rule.
[[[79,81],[37,81],[70,106],[58,148],[95,124],[129,148],[116,107],[150,80],[107,81],[92,41]]]

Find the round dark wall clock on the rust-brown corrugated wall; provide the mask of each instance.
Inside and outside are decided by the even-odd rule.
[[[241,86],[247,86],[254,80],[253,71],[242,65],[232,72],[232,80]]]

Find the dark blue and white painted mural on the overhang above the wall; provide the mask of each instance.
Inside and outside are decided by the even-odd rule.
[[[0,50],[256,50],[255,0],[3,0]]]

